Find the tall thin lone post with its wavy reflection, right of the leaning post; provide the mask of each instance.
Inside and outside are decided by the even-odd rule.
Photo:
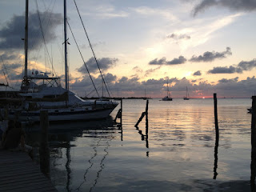
[[[217,111],[217,94],[214,94],[214,123],[215,123],[215,147],[214,147],[214,179],[217,178],[218,167],[218,111]]]

